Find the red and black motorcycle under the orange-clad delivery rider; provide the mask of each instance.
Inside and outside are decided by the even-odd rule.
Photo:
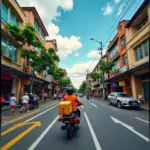
[[[80,106],[80,105],[77,105]],[[67,131],[67,138],[71,139],[73,137],[74,131],[79,130],[78,124],[80,124],[80,110],[77,108],[77,112],[71,113],[70,115],[62,115],[58,119],[59,122],[64,123],[64,126],[61,126],[61,130]]]

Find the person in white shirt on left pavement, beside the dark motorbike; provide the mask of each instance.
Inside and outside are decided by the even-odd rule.
[[[20,113],[28,110],[28,104],[29,104],[29,96],[28,93],[25,93],[24,96],[22,97],[22,107],[20,109]]]

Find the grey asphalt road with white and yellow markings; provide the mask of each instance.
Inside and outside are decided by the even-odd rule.
[[[80,106],[80,129],[71,140],[60,129],[57,106],[2,125],[1,150],[149,150],[149,113],[119,109],[96,99]]]

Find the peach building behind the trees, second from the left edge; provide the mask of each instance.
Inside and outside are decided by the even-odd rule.
[[[39,40],[43,46],[45,45],[45,37],[48,36],[48,32],[36,10],[35,7],[22,7],[24,14],[26,15],[26,24],[30,24],[36,29],[36,40]],[[39,55],[39,49],[26,45],[28,50],[35,51]],[[32,67],[28,65],[29,60],[24,59],[24,68],[23,70],[32,75],[32,77],[25,78],[22,82],[21,95],[23,92],[32,92],[43,96],[44,90],[48,89],[49,81],[45,79],[45,72],[42,74],[33,72]],[[28,82],[27,82],[28,81]],[[46,91],[48,92],[48,91]]]

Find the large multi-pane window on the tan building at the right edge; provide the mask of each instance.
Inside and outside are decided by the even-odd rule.
[[[135,59],[139,61],[147,56],[149,56],[149,40],[144,41],[138,45],[135,50]]]

